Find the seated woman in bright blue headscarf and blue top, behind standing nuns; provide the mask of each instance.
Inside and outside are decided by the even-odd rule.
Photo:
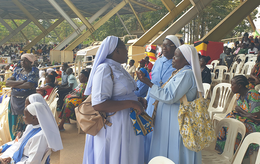
[[[144,76],[144,77],[147,77],[150,79],[149,74],[145,68],[140,68],[137,72],[140,76]],[[145,83],[141,82],[140,80],[137,80],[136,84],[137,84],[137,89],[136,89],[136,91],[134,91],[135,95],[138,97],[145,98],[147,95],[149,86],[147,86]]]

